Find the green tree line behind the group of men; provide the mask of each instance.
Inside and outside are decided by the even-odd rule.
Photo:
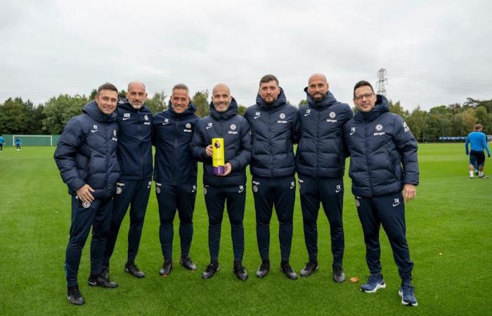
[[[119,96],[124,96],[120,91]],[[0,134],[60,134],[67,121],[82,113],[82,107],[96,94],[89,96],[60,94],[50,98],[46,103],[34,106],[22,98],[8,98],[0,104]],[[166,110],[167,95],[164,91],[155,93],[145,101],[155,114]],[[193,95],[192,103],[197,108],[196,114],[205,117],[209,114],[209,92],[198,91]],[[306,104],[302,100],[299,104]],[[246,107],[239,105],[239,114],[244,114]],[[439,105],[429,111],[416,107],[413,111],[404,110],[401,103],[389,101],[389,110],[401,115],[418,141],[434,142],[439,136],[467,136],[477,123],[484,125],[485,133],[492,133],[492,100],[467,98],[465,103]]]

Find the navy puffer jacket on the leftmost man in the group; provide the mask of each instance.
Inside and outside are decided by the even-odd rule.
[[[71,195],[88,184],[95,190],[93,197],[112,197],[119,178],[116,113],[104,114],[95,101],[82,111],[63,129],[54,154],[56,165]]]

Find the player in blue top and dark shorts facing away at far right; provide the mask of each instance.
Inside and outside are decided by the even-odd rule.
[[[470,178],[473,178],[474,169],[478,166],[479,178],[485,179],[488,176],[484,176],[484,164],[485,164],[485,154],[484,150],[487,151],[487,157],[491,157],[491,150],[488,149],[487,139],[485,134],[482,133],[484,126],[477,124],[474,127],[474,131],[468,134],[467,140],[465,142],[465,152],[470,155],[470,165],[468,166],[468,172],[470,173]],[[470,150],[468,149],[470,145]]]

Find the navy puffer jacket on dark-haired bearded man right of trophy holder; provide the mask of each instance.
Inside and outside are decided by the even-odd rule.
[[[245,118],[252,132],[252,175],[265,178],[293,176],[293,144],[299,140],[299,112],[287,104],[283,89],[280,88],[277,100],[271,105],[258,94],[257,103],[247,108]]]

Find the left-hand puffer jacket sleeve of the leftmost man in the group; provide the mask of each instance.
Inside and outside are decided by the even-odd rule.
[[[75,154],[77,154],[82,143],[84,143],[82,126],[77,119],[71,119],[63,129],[53,155],[60,176],[63,182],[67,183],[71,192],[77,192],[80,187],[85,185],[77,170],[77,162],[75,162]]]

